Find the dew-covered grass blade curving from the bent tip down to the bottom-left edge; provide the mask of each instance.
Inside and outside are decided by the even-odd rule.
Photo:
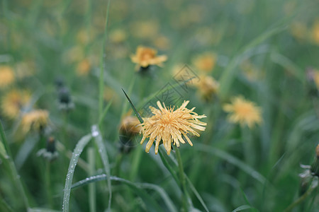
[[[82,139],[79,140],[77,146],[74,148],[74,152],[72,154],[72,158],[69,162],[69,169],[67,170],[67,178],[65,179],[65,193],[63,194],[63,205],[62,211],[69,211],[69,197],[71,195],[71,186],[72,179],[74,175],[75,167],[77,166],[77,162],[79,160],[79,156],[81,155],[84,147],[87,143],[92,139],[91,134],[83,136]]]

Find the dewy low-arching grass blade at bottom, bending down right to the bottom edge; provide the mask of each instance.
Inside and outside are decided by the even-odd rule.
[[[86,179],[83,179],[79,182],[76,182],[72,185],[72,189],[76,189],[78,187],[82,187],[86,184],[92,183],[92,182],[99,182],[101,180],[106,180],[108,179],[107,175],[96,175],[93,177],[87,177]],[[122,182],[123,184],[128,185],[129,187],[131,187],[133,189],[133,191],[138,194],[138,196],[140,196],[142,198],[142,200],[144,201],[145,205],[147,206],[147,209],[150,211],[163,211],[163,209],[159,206],[159,204],[157,204],[157,202],[152,198],[152,196],[150,196],[150,194],[147,194],[147,192],[144,191],[144,189],[142,189],[140,187],[139,184],[134,184],[133,182],[130,182],[126,179],[122,179],[119,177],[109,177],[109,179],[113,180],[113,181],[117,181],[117,182]]]

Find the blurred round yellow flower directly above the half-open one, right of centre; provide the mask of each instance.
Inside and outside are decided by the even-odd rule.
[[[198,55],[194,59],[193,63],[198,71],[211,72],[216,64],[216,54],[212,52],[205,52],[201,55]]]

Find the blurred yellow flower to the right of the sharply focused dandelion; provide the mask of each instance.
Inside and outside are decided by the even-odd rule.
[[[262,123],[261,109],[254,102],[245,100],[242,97],[233,98],[232,104],[223,106],[225,112],[230,112],[228,119],[230,122],[239,123],[252,127],[254,124]]]

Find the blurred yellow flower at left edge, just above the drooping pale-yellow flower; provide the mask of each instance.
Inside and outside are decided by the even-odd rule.
[[[30,101],[30,93],[26,90],[11,90],[1,101],[1,111],[9,119],[18,116],[21,109]]]

